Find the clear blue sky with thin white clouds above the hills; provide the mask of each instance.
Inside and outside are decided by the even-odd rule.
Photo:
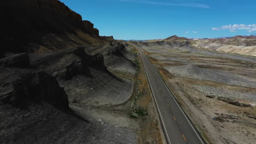
[[[256,33],[255,0],[60,0],[115,39],[218,38]]]

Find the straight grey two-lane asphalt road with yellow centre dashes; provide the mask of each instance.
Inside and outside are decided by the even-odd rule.
[[[204,144],[202,137],[185,115],[165,82],[162,81],[154,65],[140,48],[138,50],[159,112],[167,143]]]

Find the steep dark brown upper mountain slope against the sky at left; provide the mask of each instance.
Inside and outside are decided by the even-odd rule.
[[[54,52],[106,43],[89,21],[57,0],[14,0],[0,4],[0,58],[11,53]]]

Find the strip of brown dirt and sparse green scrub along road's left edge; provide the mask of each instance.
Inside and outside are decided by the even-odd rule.
[[[135,48],[134,48],[135,49]],[[136,50],[136,51],[135,51]],[[137,53],[137,49],[133,52]],[[144,68],[140,57],[133,61],[137,65],[135,73],[135,85],[133,91],[132,107],[127,115],[140,121],[141,130],[138,134],[137,143],[162,143],[161,125],[159,125],[158,113],[154,107],[147,79],[144,75]]]

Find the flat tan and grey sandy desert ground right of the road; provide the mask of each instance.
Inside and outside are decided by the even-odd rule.
[[[207,143],[254,143],[256,59],[175,43],[133,44],[149,55]]]

